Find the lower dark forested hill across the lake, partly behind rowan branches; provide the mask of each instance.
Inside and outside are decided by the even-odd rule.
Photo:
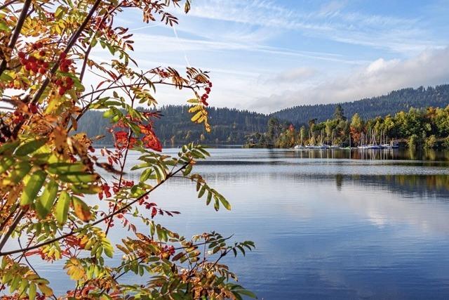
[[[267,131],[269,117],[257,112],[229,108],[209,107],[209,122],[212,126],[206,133],[202,125],[190,121],[192,114],[186,105],[166,105],[159,108],[163,117],[156,119],[154,129],[156,135],[166,146],[180,145],[192,141],[205,144],[243,144],[248,133]],[[102,117],[100,111],[88,111],[80,119],[79,132],[88,136],[104,135],[109,120]],[[100,141],[102,145],[112,145],[112,136],[108,133]]]

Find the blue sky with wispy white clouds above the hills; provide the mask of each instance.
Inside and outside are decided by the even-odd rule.
[[[209,70],[209,103],[257,112],[449,83],[449,0],[192,0],[175,29],[119,15],[139,67]],[[159,104],[185,93],[162,89]]]

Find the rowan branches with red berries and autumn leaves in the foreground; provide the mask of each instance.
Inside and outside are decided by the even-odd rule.
[[[219,233],[186,238],[159,223],[175,217],[149,199],[173,176],[196,186],[199,198],[230,209],[217,190],[194,173],[208,157],[190,143],[175,157],[161,153],[154,134],[158,86],[188,89],[192,122],[208,124],[208,73],[187,67],[142,70],[129,53],[133,34],[116,25],[127,10],[144,22],[177,25],[169,11],[180,0],[6,0],[0,4],[0,289],[4,299],[241,299],[254,296],[222,263],[245,254],[253,242],[233,242]],[[95,60],[93,48],[109,60]],[[90,76],[86,80],[86,76]],[[94,78],[94,81],[93,81]],[[95,84],[93,84],[95,82]],[[114,147],[95,150],[102,136],[77,133],[88,110],[109,119]],[[199,125],[200,126],[200,125]],[[130,151],[139,163],[128,169]],[[130,180],[128,171],[138,170]],[[105,176],[109,174],[109,176]],[[109,179],[106,179],[109,178]],[[112,178],[112,179],[111,179]],[[139,232],[138,223],[145,233]],[[126,233],[120,244],[108,235]],[[140,227],[139,227],[140,228]],[[107,259],[107,257],[111,259]],[[73,285],[55,294],[36,261],[63,261]],[[142,277],[125,284],[123,275]]]

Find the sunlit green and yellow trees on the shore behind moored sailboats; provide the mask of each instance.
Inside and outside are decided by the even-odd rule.
[[[269,119],[267,131],[246,137],[248,147],[291,148],[295,145],[358,146],[396,141],[409,147],[449,148],[449,105],[445,108],[410,108],[385,117],[363,119],[355,113],[344,116],[342,105],[335,107],[332,119],[294,126],[276,117]]]

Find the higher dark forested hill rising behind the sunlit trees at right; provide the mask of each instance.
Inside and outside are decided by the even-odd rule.
[[[329,95],[332,97],[332,95]],[[341,103],[344,115],[351,117],[356,112],[363,119],[394,115],[396,112],[408,111],[410,107],[446,107],[449,105],[449,84],[431,87],[427,89],[400,89],[391,91],[387,95],[373,98],[365,98],[353,102]],[[318,122],[332,119],[335,111],[333,104],[301,105],[286,108],[274,112],[272,116],[286,119],[294,124],[307,124],[309,119],[317,119]]]

